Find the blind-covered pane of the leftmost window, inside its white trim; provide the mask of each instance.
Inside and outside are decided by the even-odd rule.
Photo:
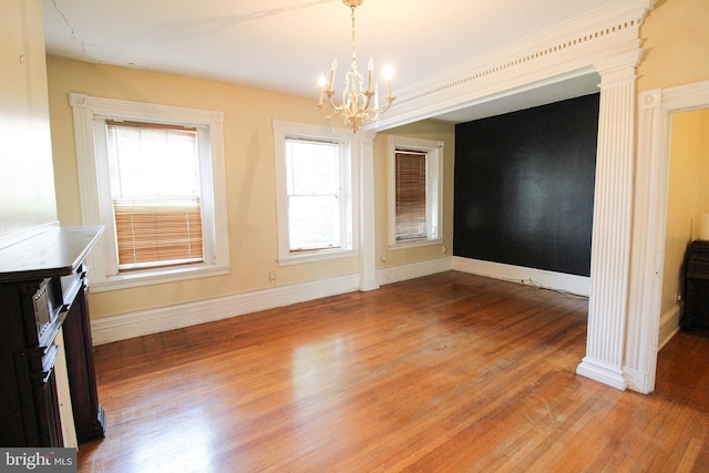
[[[119,270],[202,263],[198,133],[106,121]]]

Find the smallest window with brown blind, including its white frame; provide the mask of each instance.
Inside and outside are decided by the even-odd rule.
[[[442,142],[389,137],[391,247],[441,243],[442,153]]]

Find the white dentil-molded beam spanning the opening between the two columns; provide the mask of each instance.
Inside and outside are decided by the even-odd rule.
[[[635,68],[639,28],[654,3],[614,2],[442,71],[399,91],[387,116],[370,127],[386,130],[590,74],[618,58]]]

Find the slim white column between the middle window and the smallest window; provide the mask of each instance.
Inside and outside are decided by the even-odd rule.
[[[379,289],[374,233],[374,132],[360,131],[359,290]]]

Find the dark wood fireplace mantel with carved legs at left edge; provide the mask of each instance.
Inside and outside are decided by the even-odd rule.
[[[52,227],[0,249],[0,445],[63,446],[55,366],[63,335],[79,443],[105,434],[84,259],[102,227]]]

